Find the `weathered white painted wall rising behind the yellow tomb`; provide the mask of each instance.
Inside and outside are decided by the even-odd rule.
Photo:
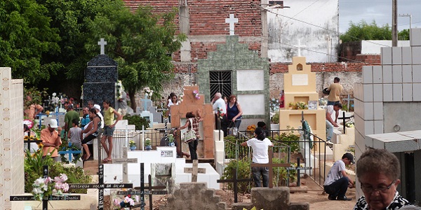
[[[271,61],[291,62],[293,56],[298,56],[300,42],[305,45],[301,56],[305,56],[307,62],[336,62],[339,1],[284,0],[283,5],[290,8],[272,9],[273,13],[267,13]]]

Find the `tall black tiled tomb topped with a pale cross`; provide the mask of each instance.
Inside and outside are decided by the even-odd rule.
[[[110,106],[116,107],[116,83],[119,76],[117,62],[105,55],[104,45],[107,42],[103,38],[98,44],[101,45],[101,54],[88,62],[85,71],[83,106],[88,106],[88,101],[93,100],[102,107],[102,102],[107,99]]]

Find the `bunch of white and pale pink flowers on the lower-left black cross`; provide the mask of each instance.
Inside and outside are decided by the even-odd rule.
[[[69,184],[67,184],[66,181],[66,174],[55,176],[54,179],[51,179],[49,176],[46,178],[40,177],[32,184],[32,195],[34,195],[35,200],[39,201],[42,201],[44,198],[48,198],[50,196],[62,197],[64,196],[63,193],[69,190]]]

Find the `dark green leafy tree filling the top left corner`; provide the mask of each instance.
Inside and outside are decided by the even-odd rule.
[[[0,66],[10,66],[13,78],[36,85],[62,66],[44,60],[60,52],[58,29],[50,27],[48,10],[35,0],[0,2]]]

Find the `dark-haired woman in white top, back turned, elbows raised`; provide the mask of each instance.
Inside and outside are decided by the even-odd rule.
[[[254,138],[241,143],[241,146],[251,146],[253,148],[253,163],[266,164],[269,163],[269,146],[274,146],[272,142],[266,138],[265,132],[261,127],[257,127]],[[251,167],[255,187],[261,187],[260,176],[262,177],[263,187],[269,186],[269,169],[267,167]]]

